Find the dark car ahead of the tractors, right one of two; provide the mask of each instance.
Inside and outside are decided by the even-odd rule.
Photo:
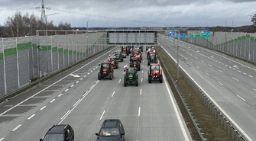
[[[104,120],[96,136],[98,141],[125,141],[124,126],[119,119]]]

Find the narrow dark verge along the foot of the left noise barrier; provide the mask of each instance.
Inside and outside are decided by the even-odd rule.
[[[109,47],[109,48],[107,48],[107,49],[105,49],[105,50],[109,50],[110,48],[111,48],[111,47]],[[102,51],[100,51],[99,53],[105,52],[105,50],[102,50]],[[46,77],[43,77],[43,78],[41,78],[41,79],[38,79],[38,80],[37,80],[37,79],[33,79],[33,80],[31,80],[31,84],[30,84],[30,85],[24,86],[24,88],[21,88],[21,89],[19,89],[18,91],[15,91],[15,92],[13,92],[13,93],[7,95],[7,96],[4,97],[4,98],[1,98],[1,99],[0,99],[0,104],[1,104],[2,102],[6,101],[6,100],[9,99],[9,98],[13,98],[13,97],[15,97],[16,95],[20,95],[20,94],[23,93],[24,91],[28,91],[30,88],[33,88],[34,86],[39,85],[39,84],[41,84],[42,82],[46,82],[47,80],[52,79],[54,76],[59,75],[60,73],[65,72],[65,71],[67,71],[67,70],[73,68],[74,66],[79,65],[80,63],[85,62],[86,60],[92,58],[93,56],[98,55],[99,53],[96,53],[96,54],[94,54],[94,55],[92,55],[92,56],[89,56],[89,57],[86,58],[86,59],[83,59],[83,60],[81,60],[81,61],[79,61],[79,62],[74,63],[72,66],[68,66],[68,67],[66,67],[65,69],[61,69],[60,71],[54,72],[53,74],[47,75]]]

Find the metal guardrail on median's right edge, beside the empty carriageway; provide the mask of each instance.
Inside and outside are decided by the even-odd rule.
[[[159,43],[160,45],[160,43]],[[161,46],[161,45],[160,45]],[[163,50],[164,47],[161,46]],[[165,52],[170,56],[170,54],[165,50]],[[175,66],[177,66],[177,62],[175,59],[173,59],[172,56],[170,56],[171,60],[174,62]],[[209,108],[209,110],[212,112],[212,115],[215,115],[215,117],[220,121],[221,125],[224,126],[225,130],[228,131],[228,134],[231,134],[232,139],[236,141],[253,141],[243,130],[238,127],[238,125],[229,117],[227,114],[225,114],[225,111],[222,110],[221,107],[219,107],[218,104],[213,101],[213,99],[206,93],[206,91],[203,90],[193,79],[192,77],[186,73],[186,71],[180,66],[180,72],[183,75],[183,77],[186,79],[186,82],[190,84],[190,86],[193,88],[194,91],[196,91],[196,94],[199,95],[199,98],[203,101],[204,104]]]

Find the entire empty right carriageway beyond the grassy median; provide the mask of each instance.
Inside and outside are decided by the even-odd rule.
[[[164,40],[164,36],[161,36]],[[232,117],[251,139],[256,139],[256,66],[213,50],[166,38],[164,50]],[[163,43],[161,43],[163,44]]]

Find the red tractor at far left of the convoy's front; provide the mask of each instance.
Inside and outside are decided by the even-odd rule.
[[[114,65],[112,64],[112,62],[101,62],[99,66],[99,80],[104,79],[106,77],[108,77],[109,80],[112,80],[114,78]]]

